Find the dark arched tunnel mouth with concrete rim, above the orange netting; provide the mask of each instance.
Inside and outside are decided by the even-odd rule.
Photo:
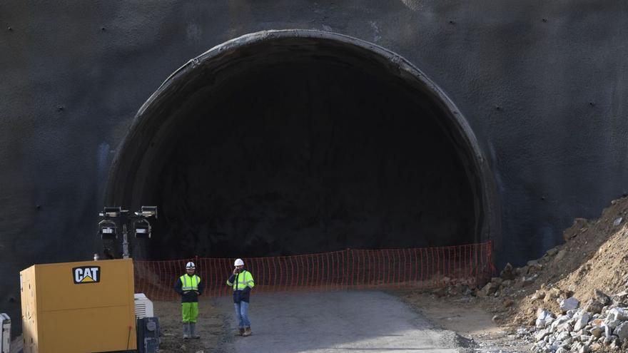
[[[158,206],[135,257],[258,257],[495,240],[491,180],[460,112],[405,60],[338,34],[270,31],[163,83],[106,200]]]

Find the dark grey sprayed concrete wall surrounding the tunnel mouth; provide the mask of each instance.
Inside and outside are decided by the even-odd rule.
[[[490,165],[500,258],[538,256],[627,193],[627,27],[621,1],[5,1],[0,308],[19,316],[19,270],[91,256],[113,156],[151,93],[208,48],[270,29],[353,36],[420,68]]]

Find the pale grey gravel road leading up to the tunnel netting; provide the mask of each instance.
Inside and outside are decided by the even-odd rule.
[[[233,302],[218,300],[236,331]],[[226,352],[460,352],[455,333],[436,329],[383,292],[251,295],[253,335],[233,337]]]

